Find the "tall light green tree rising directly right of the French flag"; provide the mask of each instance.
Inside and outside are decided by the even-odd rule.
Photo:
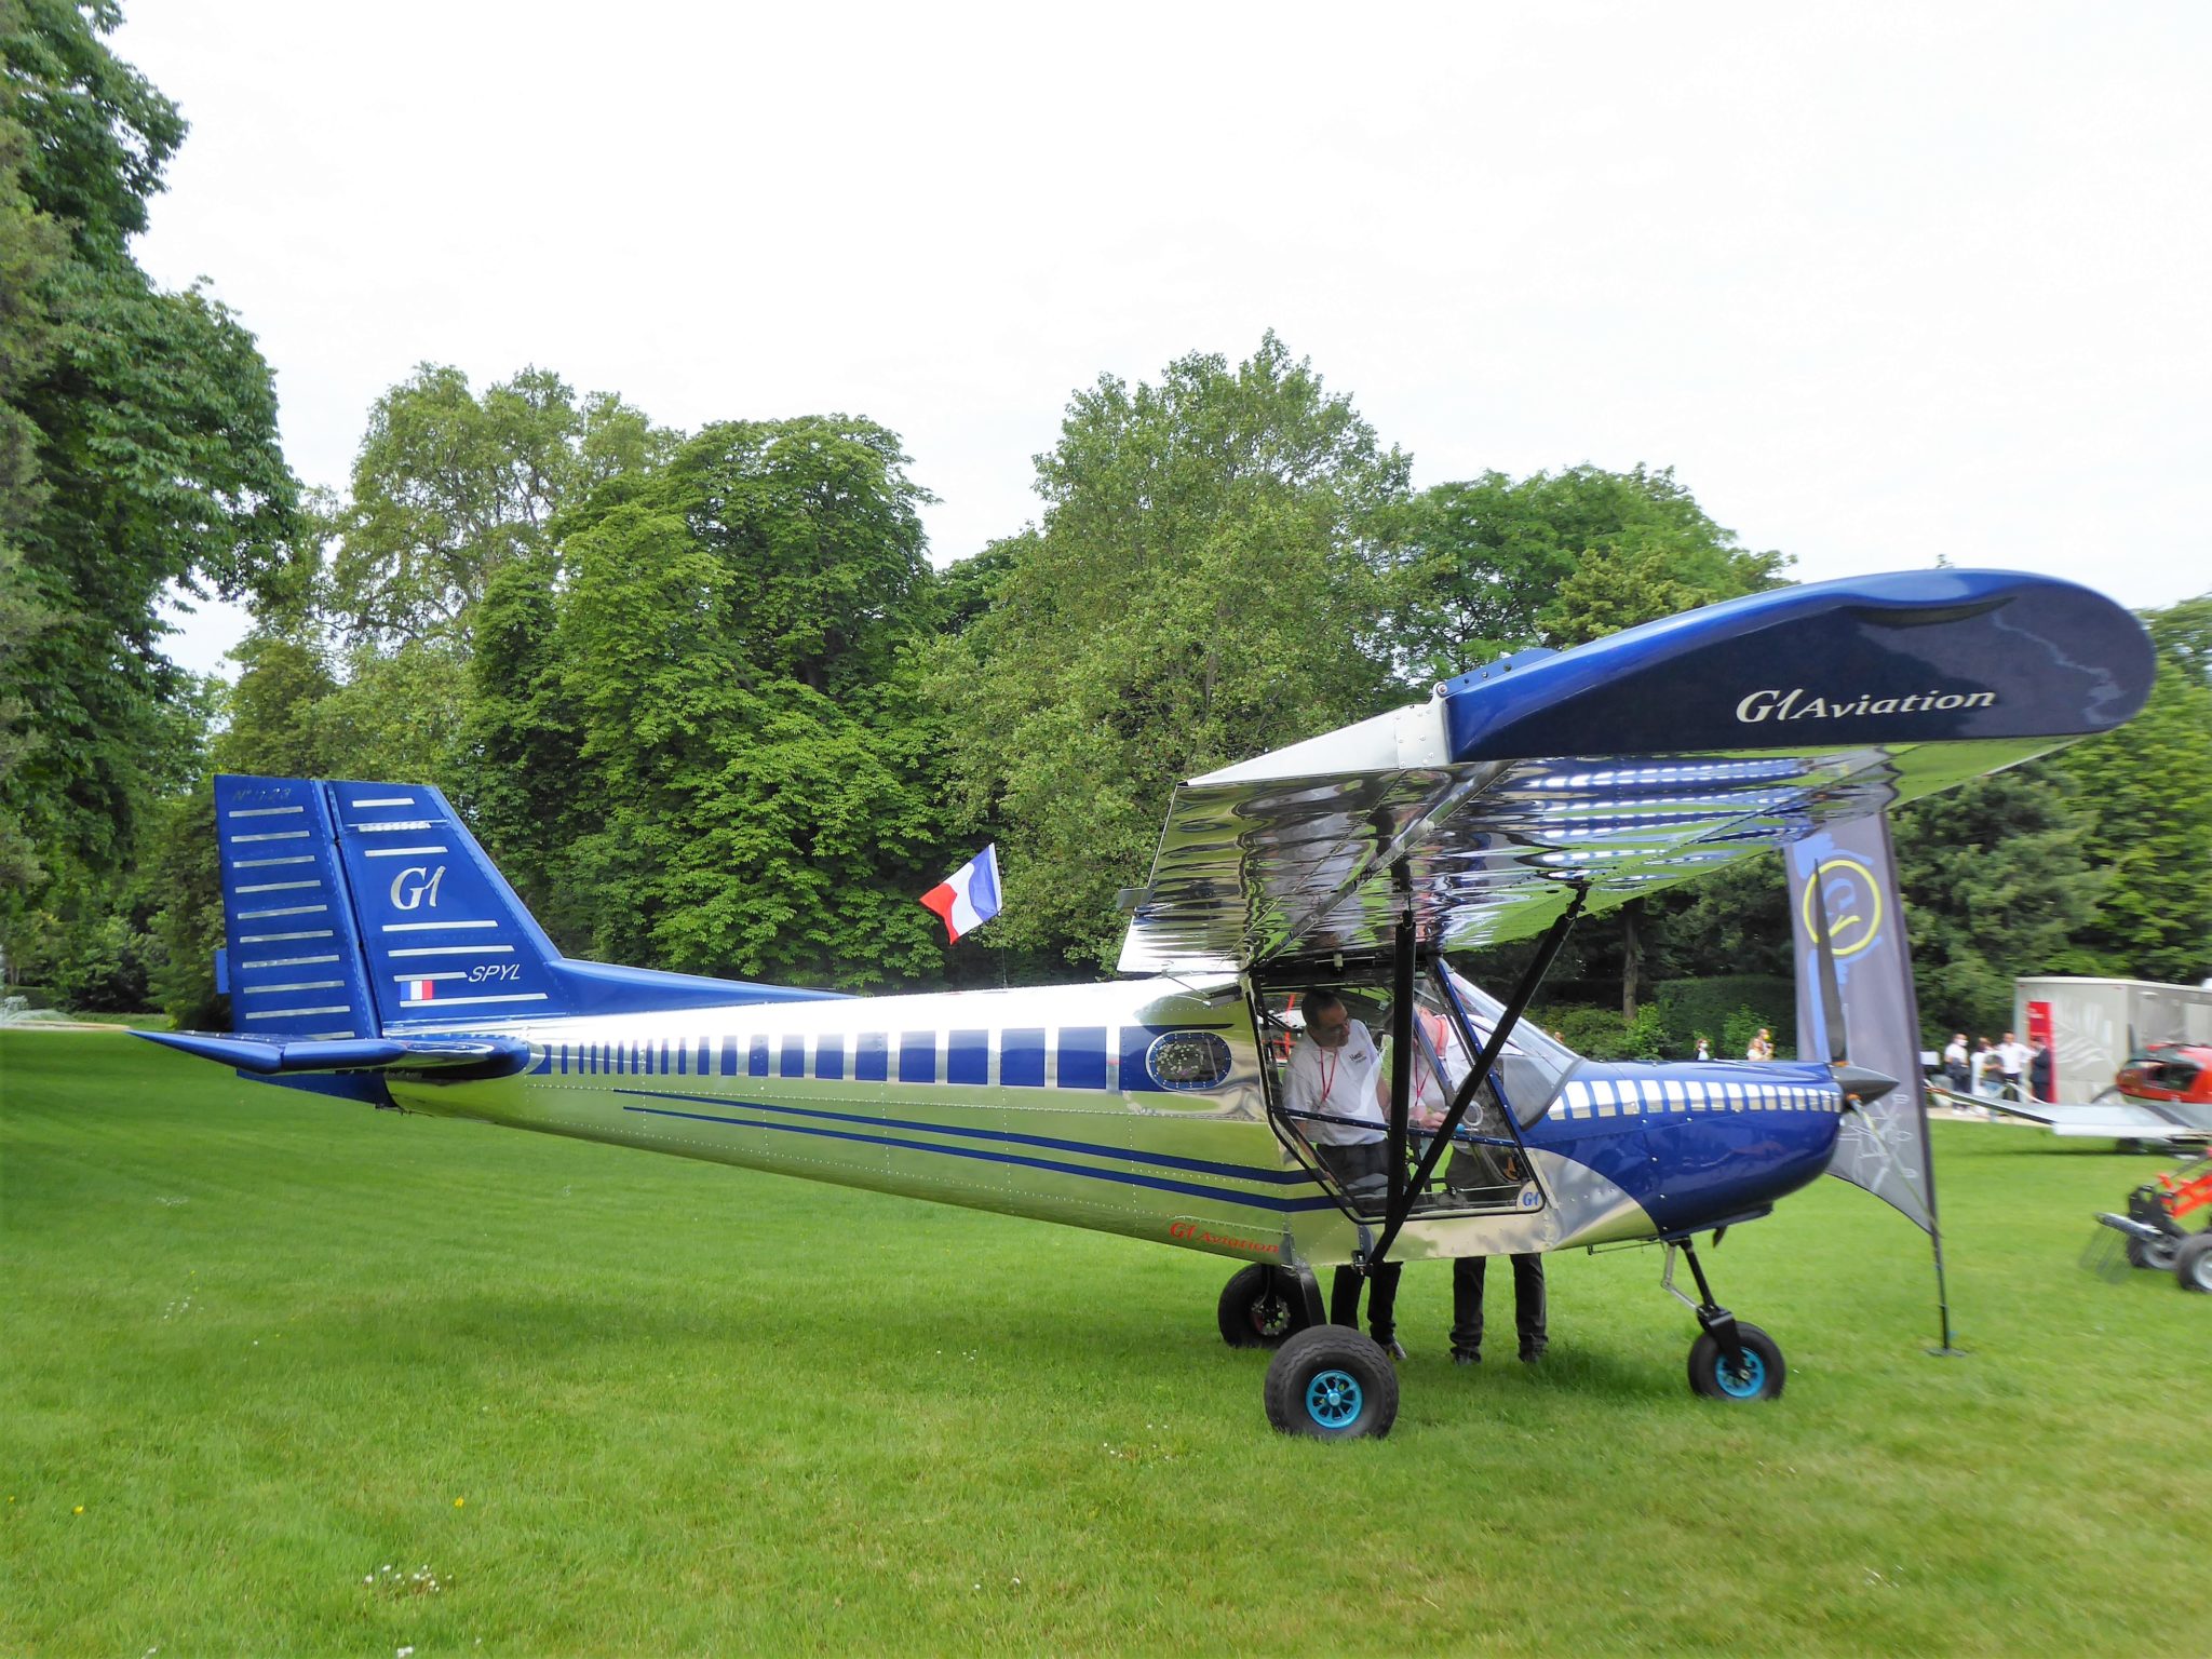
[[[960,810],[1002,847],[998,949],[1113,962],[1175,783],[1389,703],[1378,637],[1407,458],[1267,334],[1234,369],[1104,376],[1037,456],[938,650]]]

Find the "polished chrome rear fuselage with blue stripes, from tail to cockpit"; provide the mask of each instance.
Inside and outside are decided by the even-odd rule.
[[[1219,1086],[1164,1088],[1144,1073],[1166,1031],[1228,1044]],[[1267,1124],[1234,982],[690,1009],[544,1020],[520,1035],[533,1048],[522,1075],[394,1077],[394,1095],[411,1110],[1256,1261],[1292,1259],[1303,1230],[1327,1239],[1338,1221]]]

